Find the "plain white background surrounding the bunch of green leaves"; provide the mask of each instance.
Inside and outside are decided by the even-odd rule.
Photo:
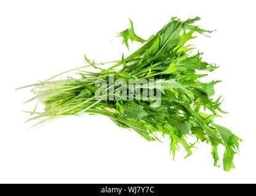
[[[84,54],[120,59],[128,52],[113,37],[128,18],[148,39],[173,16],[217,29],[193,43],[220,66],[208,79],[223,81],[215,92],[229,112],[216,122],[243,140],[235,169],[214,167],[207,144],[186,159],[181,149],[173,162],[168,140],[148,142],[104,116],[28,129],[22,110],[33,109],[23,105],[31,94],[15,88],[82,66]],[[0,183],[256,183],[254,1],[0,1],[0,18]]]

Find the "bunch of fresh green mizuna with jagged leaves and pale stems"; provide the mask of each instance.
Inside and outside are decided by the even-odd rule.
[[[129,40],[143,43],[142,47],[126,58],[123,55],[120,61],[96,63],[84,56],[87,66],[29,85],[35,96],[28,101],[38,100],[44,105],[44,111],[38,112],[35,108],[30,112],[34,117],[29,121],[39,119],[38,124],[42,124],[67,115],[105,115],[119,127],[134,130],[148,141],[159,140],[159,134],[169,137],[173,156],[179,146],[186,149],[186,157],[190,156],[195,143],[188,143],[188,136],[194,136],[197,141],[205,141],[212,146],[215,166],[219,166],[218,145],[225,146],[223,168],[230,171],[234,168],[233,157],[238,153],[238,141],[241,139],[213,121],[220,116],[217,115],[218,111],[225,113],[220,108],[220,97],[217,100],[210,98],[214,95],[214,85],[218,81],[203,83],[199,80],[207,74],[196,74],[196,70],[212,72],[217,66],[201,61],[201,53],[191,55],[194,48],[185,45],[196,37],[194,34],[212,32],[192,25],[199,19],[196,17],[181,21],[172,18],[148,40],[135,34],[130,21],[131,27],[118,36],[123,38],[127,47]],[[95,71],[89,72],[86,67],[94,67]],[[79,75],[56,80],[60,75],[70,72]],[[108,81],[110,75],[114,81],[121,78],[127,83],[130,79],[161,81],[161,105],[152,107],[151,100],[129,100],[124,97],[119,100],[97,99],[95,92],[101,88],[97,81]],[[107,89],[110,88],[113,90],[107,91],[107,96],[119,89],[108,83]],[[146,87],[142,85],[140,88]],[[153,88],[153,91],[156,93],[158,89]],[[135,92],[132,94],[143,96]],[[205,110],[210,114],[202,112]]]

